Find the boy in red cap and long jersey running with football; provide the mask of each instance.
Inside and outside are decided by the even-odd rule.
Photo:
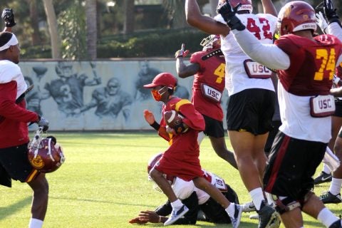
[[[195,187],[207,192],[226,209],[232,220],[233,227],[238,227],[242,213],[241,206],[229,202],[217,187],[211,185],[204,178],[204,172],[199,164],[197,136],[199,131],[204,130],[204,118],[195,110],[194,105],[189,100],[172,95],[176,86],[177,79],[170,73],[160,73],[155,76],[152,83],[144,86],[145,88],[151,88],[153,98],[163,103],[160,124],[155,121],[153,113],[149,110],[144,111],[145,120],[152,128],[158,131],[162,138],[170,143],[170,147],[150,171],[150,177],[152,177],[171,202],[172,213],[164,225],[173,224],[189,211],[180,199],[177,198],[170,183],[163,176],[172,175],[180,177],[185,181],[192,180]],[[178,114],[182,116],[182,121],[177,125],[172,121],[167,123],[165,120],[164,114],[172,110],[177,112],[177,117]],[[175,120],[179,120],[179,118],[175,118]],[[169,125],[173,125],[173,128]]]

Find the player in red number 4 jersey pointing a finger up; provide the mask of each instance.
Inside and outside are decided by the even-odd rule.
[[[208,135],[214,151],[237,169],[234,153],[227,150],[224,141],[223,111],[221,98],[224,90],[225,61],[218,35],[211,35],[201,42],[203,51],[197,51],[190,57],[190,64],[184,63],[189,51],[175,53],[176,70],[180,78],[194,76],[192,100],[195,109],[203,115],[205,130],[199,133],[199,144],[204,135]]]

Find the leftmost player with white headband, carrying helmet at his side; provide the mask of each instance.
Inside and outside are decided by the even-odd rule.
[[[27,158],[27,123],[38,123],[48,130],[48,120],[26,110],[27,85],[19,63],[19,42],[10,33],[15,26],[11,9],[4,9],[1,18],[6,31],[0,33],[0,185],[11,187],[11,180],[26,182],[33,190],[29,228],[41,228],[48,208],[48,181],[34,169]]]

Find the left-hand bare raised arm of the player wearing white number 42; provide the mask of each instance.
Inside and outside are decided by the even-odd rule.
[[[205,33],[227,36],[230,31],[226,25],[215,21],[209,16],[204,16],[199,10],[196,0],[185,1],[185,16],[187,23],[190,24],[190,26],[198,28]]]

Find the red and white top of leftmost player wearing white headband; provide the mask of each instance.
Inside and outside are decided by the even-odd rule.
[[[14,147],[28,142],[27,123],[38,115],[26,110],[25,100],[16,104],[16,98],[27,86],[19,66],[0,61],[0,148]]]

